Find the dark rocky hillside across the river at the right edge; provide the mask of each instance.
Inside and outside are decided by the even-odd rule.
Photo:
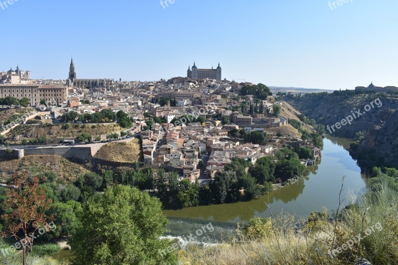
[[[378,101],[378,98],[380,101]],[[338,137],[354,138],[359,131],[364,132],[358,152],[367,157],[367,161],[385,166],[398,166],[398,98],[396,95],[384,93],[359,95],[325,95],[310,97],[291,97],[288,100],[293,106],[308,118],[331,128],[336,122],[341,122],[357,111],[362,114],[353,119],[351,124],[340,129],[326,130]],[[375,101],[376,100],[376,101]],[[373,102],[374,107],[371,106]],[[380,107],[376,104],[379,103]],[[365,111],[365,106],[370,106]],[[369,157],[369,154],[372,154]],[[366,166],[366,165],[362,165]],[[368,165],[372,166],[372,165]]]

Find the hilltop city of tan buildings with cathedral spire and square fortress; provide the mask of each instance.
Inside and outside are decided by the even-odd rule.
[[[95,123],[85,117],[103,110],[123,111],[133,121],[126,134],[141,139],[142,162],[175,170],[180,180],[191,182],[206,182],[233,158],[254,165],[257,159],[271,155],[281,146],[282,133],[277,129],[289,124],[277,95],[262,84],[222,79],[219,63],[216,69],[199,69],[194,62],[186,77],[158,82],[78,79],[73,59],[66,80],[33,80],[30,71],[22,71],[19,66],[0,75],[0,98],[27,98],[26,106],[37,111],[30,113],[33,119],[38,115],[53,123]],[[251,88],[258,90],[257,96],[246,91]],[[22,122],[27,121],[24,118]],[[3,128],[2,135],[17,125]],[[303,141],[293,134],[283,135],[283,143],[311,150],[303,164],[319,159],[320,151],[311,140]],[[99,143],[111,138],[106,134],[91,137]],[[122,132],[115,139],[121,137],[127,136]],[[57,141],[79,142],[76,138],[62,138],[43,144]]]

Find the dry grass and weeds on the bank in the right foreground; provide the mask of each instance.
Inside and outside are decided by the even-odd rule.
[[[295,228],[290,214],[253,218],[240,237],[217,247],[190,246],[180,252],[182,264],[346,265],[398,264],[397,192],[381,181],[377,189],[352,195],[334,220],[311,214]],[[339,200],[341,205],[341,200]],[[340,207],[339,207],[340,209]],[[357,262],[357,263],[356,263]]]

